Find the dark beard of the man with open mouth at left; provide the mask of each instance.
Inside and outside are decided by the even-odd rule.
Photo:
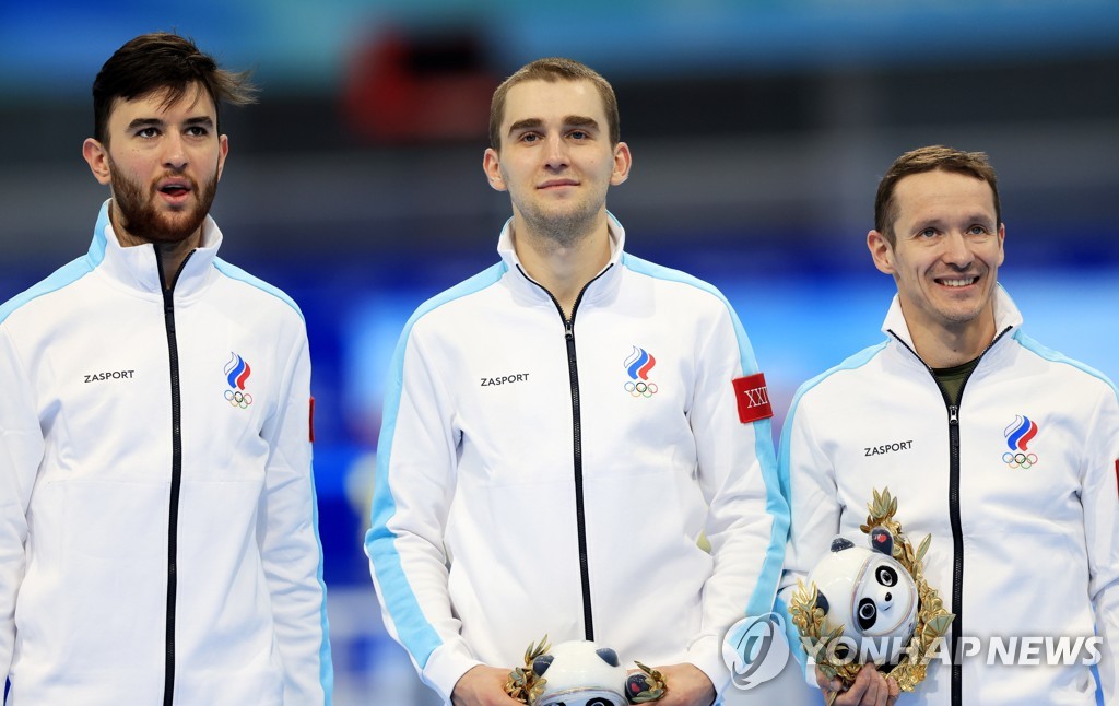
[[[184,213],[181,218],[171,218],[156,209],[156,187],[144,189],[143,185],[132,181],[112,168],[113,207],[116,209],[119,224],[130,235],[149,243],[181,243],[195,234],[206,220],[209,208],[217,194],[217,173],[206,180],[203,189],[191,180],[190,188],[198,195],[194,208]]]

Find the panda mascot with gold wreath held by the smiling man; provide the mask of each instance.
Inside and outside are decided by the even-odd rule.
[[[867,509],[871,515],[859,529],[868,535],[869,547],[836,537],[809,574],[809,586],[799,583],[789,614],[828,679],[850,686],[863,665],[874,662],[885,667],[899,688],[912,691],[955,615],[924,580],[922,561],[931,535],[913,550],[894,519],[897,499],[888,488],[881,495],[874,490]]]

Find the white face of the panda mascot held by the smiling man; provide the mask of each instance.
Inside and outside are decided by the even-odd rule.
[[[916,586],[909,574],[893,557],[872,553],[855,582],[852,622],[867,637],[893,636],[915,613]]]

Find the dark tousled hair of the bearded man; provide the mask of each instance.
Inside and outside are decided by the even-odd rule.
[[[93,134],[102,143],[109,143],[109,114],[117,98],[131,101],[166,92],[164,105],[170,105],[194,84],[206,90],[220,120],[223,101],[233,105],[256,101],[250,73],[219,68],[213,57],[179,35],[140,35],[109,57],[93,81]]]

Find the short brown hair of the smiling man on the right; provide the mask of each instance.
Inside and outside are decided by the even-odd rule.
[[[998,203],[998,177],[985,152],[965,152],[942,144],[922,147],[899,157],[878,182],[878,194],[874,199],[874,229],[881,233],[890,245],[894,245],[894,222],[897,220],[897,204],[894,190],[902,178],[925,171],[952,171],[981,179],[990,185],[995,196],[995,225],[1003,223],[1003,207]]]

